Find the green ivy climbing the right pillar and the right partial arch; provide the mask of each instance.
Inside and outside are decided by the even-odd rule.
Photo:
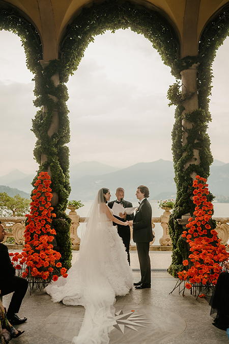
[[[209,113],[209,96],[211,95],[212,81],[212,63],[216,56],[216,50],[228,36],[229,28],[229,6],[227,5],[205,28],[199,42],[198,56],[185,57],[181,60],[175,60],[171,68],[177,78],[181,78],[180,72],[189,68],[192,64],[198,64],[197,68],[197,88],[199,110],[185,114],[186,120],[193,123],[193,127],[188,129],[187,143],[182,146],[182,119],[183,101],[180,92],[180,83],[177,81],[168,91],[170,104],[177,105],[175,112],[175,124],[172,131],[173,138],[173,157],[175,167],[175,181],[177,184],[177,200],[173,214],[169,219],[169,234],[173,242],[172,263],[169,267],[169,273],[177,276],[179,271],[183,270],[182,261],[187,258],[187,251],[182,239],[183,227],[178,224],[177,219],[182,215],[191,213],[193,215],[194,205],[191,200],[193,192],[192,178],[190,173],[208,178],[210,174],[210,165],[213,157],[210,150],[210,139],[207,134],[208,123],[211,121]],[[193,158],[193,149],[198,149],[201,163],[199,165],[191,164],[184,171],[186,162]],[[208,201],[213,200],[210,194]],[[213,222],[213,228],[216,223]]]

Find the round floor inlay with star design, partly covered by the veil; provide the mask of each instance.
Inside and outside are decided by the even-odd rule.
[[[182,317],[147,304],[117,301],[109,344],[159,344],[179,336],[186,328]],[[50,314],[46,328],[70,342],[82,324],[84,308],[67,306]]]

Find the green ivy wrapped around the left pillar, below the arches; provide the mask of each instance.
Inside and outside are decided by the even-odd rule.
[[[40,172],[51,170],[51,188],[52,192],[58,194],[58,204],[54,207],[56,219],[53,221],[53,227],[56,231],[56,243],[61,253],[61,262],[63,267],[71,267],[71,239],[70,225],[71,219],[65,214],[68,205],[68,197],[71,192],[69,181],[69,148],[65,146],[70,141],[70,128],[68,119],[68,109],[66,101],[68,100],[67,87],[60,83],[54,86],[51,76],[61,74],[62,66],[58,60],[50,61],[44,69],[40,67],[35,76],[35,95],[34,101],[36,107],[45,105],[46,111],[38,110],[33,120],[33,131],[38,138],[34,156],[40,164],[38,174],[33,181],[37,180]],[[53,112],[58,112],[59,129],[51,138],[48,136],[48,129],[52,122]],[[46,155],[46,162],[41,164],[41,154]]]

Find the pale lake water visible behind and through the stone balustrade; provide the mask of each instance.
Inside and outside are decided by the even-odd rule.
[[[92,205],[92,202],[83,202],[82,203],[84,204],[83,207],[77,209],[77,214],[80,216],[80,217],[86,217],[88,215],[88,212],[89,212],[89,209]],[[161,208],[158,208],[158,203],[157,202],[150,202],[151,206],[152,206],[152,211],[153,211],[153,217],[154,218],[157,218],[157,217],[160,217],[164,210],[162,210]],[[137,206],[138,205],[138,202],[133,202],[133,206]],[[222,218],[229,218],[229,203],[214,203],[213,202],[213,205],[214,205],[214,216],[213,217],[222,217]],[[69,209],[66,210],[66,213],[68,214],[69,213]],[[81,234],[81,230],[80,230],[80,225],[78,227],[78,235],[80,237],[80,234]],[[160,245],[159,244],[159,239],[160,237],[162,236],[162,233],[163,233],[163,229],[160,225],[160,223],[155,223],[155,228],[154,228],[154,232],[155,232],[155,242],[154,242],[154,245]],[[134,245],[133,242],[131,242],[132,245]]]

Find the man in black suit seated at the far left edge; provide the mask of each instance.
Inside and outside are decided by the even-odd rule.
[[[27,319],[20,319],[16,313],[19,312],[21,302],[25,296],[28,281],[25,278],[15,276],[15,268],[12,265],[8,248],[1,244],[6,235],[6,231],[0,221],[0,289],[2,296],[14,293],[7,311],[8,320],[12,325],[24,323]]]

